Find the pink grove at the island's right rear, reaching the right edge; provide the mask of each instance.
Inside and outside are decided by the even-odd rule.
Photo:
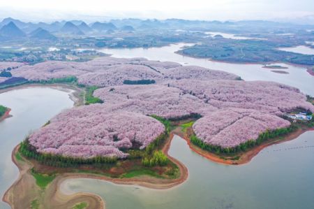
[[[282,113],[294,108],[314,112],[299,89],[276,82],[244,80],[174,80],[170,86],[193,94],[217,108],[255,109],[265,113]]]

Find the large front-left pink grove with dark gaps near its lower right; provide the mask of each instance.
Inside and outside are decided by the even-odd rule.
[[[66,110],[29,136],[38,152],[68,157],[124,158],[130,147],[143,149],[163,134],[165,127],[152,117],[103,105]]]

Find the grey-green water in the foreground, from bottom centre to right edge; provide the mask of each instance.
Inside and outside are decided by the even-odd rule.
[[[216,164],[175,136],[169,154],[188,167],[189,178],[172,189],[66,180],[66,193],[92,192],[109,209],[121,208],[314,208],[314,131],[262,150],[241,166]]]

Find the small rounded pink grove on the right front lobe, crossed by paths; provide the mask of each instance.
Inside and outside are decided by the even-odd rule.
[[[262,132],[289,127],[290,122],[276,115],[252,111],[237,113],[232,108],[209,113],[193,124],[198,138],[220,147],[235,147],[255,140]]]

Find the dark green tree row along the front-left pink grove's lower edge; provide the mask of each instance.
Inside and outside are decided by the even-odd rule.
[[[94,165],[102,167],[103,165],[115,164],[116,157],[92,157],[92,158],[79,158],[79,157],[65,157],[57,154],[44,154],[36,151],[36,148],[29,144],[26,139],[20,144],[19,152],[27,158],[36,159],[41,164],[54,167],[78,167],[81,165]]]

